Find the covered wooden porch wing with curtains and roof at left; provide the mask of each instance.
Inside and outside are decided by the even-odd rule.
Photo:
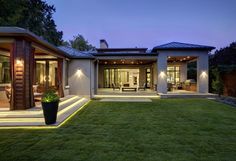
[[[1,28],[0,108],[25,110],[37,106],[42,93],[63,90],[65,53],[21,28]]]

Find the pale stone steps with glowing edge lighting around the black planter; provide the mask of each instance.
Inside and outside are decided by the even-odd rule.
[[[78,111],[83,105],[89,102],[89,99],[79,96],[69,95],[60,100],[57,122],[52,126],[56,127],[63,123],[70,115]],[[9,126],[44,126],[42,107],[20,111],[9,111],[9,109],[0,109],[0,127]]]

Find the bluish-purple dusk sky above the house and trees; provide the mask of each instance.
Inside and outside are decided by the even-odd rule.
[[[171,41],[224,47],[236,41],[236,0],[46,0],[65,40],[82,34],[99,47]]]

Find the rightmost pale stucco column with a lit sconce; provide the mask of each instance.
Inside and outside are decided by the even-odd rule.
[[[208,54],[201,54],[197,60],[197,92],[208,93]]]

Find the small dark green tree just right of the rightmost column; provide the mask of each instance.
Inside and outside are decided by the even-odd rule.
[[[220,97],[224,92],[224,85],[219,69],[218,68],[212,69],[212,75],[214,77],[212,80],[212,89]]]

